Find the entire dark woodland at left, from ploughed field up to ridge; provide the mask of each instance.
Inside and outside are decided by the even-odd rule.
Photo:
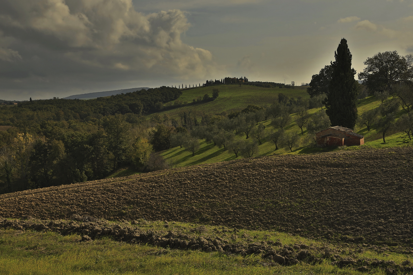
[[[13,126],[0,132],[3,192],[101,179],[122,165],[147,167],[152,128],[141,114],[180,94],[160,87],[1,107],[0,124]]]

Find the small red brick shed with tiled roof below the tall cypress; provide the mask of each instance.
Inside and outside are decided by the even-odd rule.
[[[324,146],[353,146],[364,144],[364,136],[353,133],[353,130],[334,126],[316,133],[318,147]]]

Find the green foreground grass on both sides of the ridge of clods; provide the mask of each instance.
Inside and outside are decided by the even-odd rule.
[[[231,237],[233,242],[280,241],[292,246],[302,243],[309,246],[325,246],[341,252],[342,257],[354,259],[374,258],[392,260],[397,264],[411,260],[408,255],[389,252],[379,254],[373,247],[361,249],[359,245],[325,244],[315,240],[292,236],[274,231],[219,232],[217,226],[199,226],[188,223],[170,224],[164,228],[163,222],[140,223],[142,229],[179,230],[199,236],[221,235]],[[222,228],[222,227],[221,227]],[[191,230],[192,229],[192,230]],[[195,233],[194,233],[195,232]],[[105,237],[99,240],[80,242],[79,235],[62,236],[54,232],[0,230],[0,274],[362,274],[355,267],[338,268],[328,259],[309,264],[305,262],[293,266],[281,266],[260,254],[247,256],[199,250],[163,249],[149,245],[133,245],[116,242]],[[247,239],[248,238],[248,239]],[[377,249],[376,249],[377,250]],[[320,255],[316,255],[320,256]],[[385,274],[385,270],[370,269],[369,273]]]

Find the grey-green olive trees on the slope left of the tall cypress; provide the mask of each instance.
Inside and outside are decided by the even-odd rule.
[[[248,105],[238,112],[216,115],[209,120],[202,119],[198,125],[195,122],[191,127],[177,127],[176,131],[171,132],[170,146],[185,148],[193,156],[199,149],[199,140],[204,139],[214,143],[214,146],[234,153],[235,157],[252,157],[258,153],[259,145],[264,140],[272,141],[275,150],[282,146],[292,151],[299,146],[299,134],[285,133],[285,127],[290,125],[292,113],[298,114],[295,122],[301,129],[301,135],[304,135],[304,127],[311,133],[309,140],[314,133],[330,126],[330,120],[324,110],[309,115],[309,100],[287,99],[283,94],[279,94],[278,101],[267,108]],[[273,127],[266,127],[263,123],[269,119]],[[188,123],[186,125],[188,126]]]

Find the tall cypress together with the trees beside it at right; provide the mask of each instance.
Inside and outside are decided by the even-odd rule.
[[[311,99],[323,99],[332,125],[354,129],[357,124],[368,131],[375,125],[383,136],[391,130],[403,131],[411,139],[413,107],[413,55],[399,55],[396,51],[379,52],[364,61],[363,72],[358,73],[359,84],[354,80],[356,71],[351,68],[351,53],[347,40],[341,40],[335,52],[335,61],[313,75],[307,92]],[[357,115],[356,101],[375,95],[381,105],[374,110]],[[404,113],[399,116],[400,109]]]

